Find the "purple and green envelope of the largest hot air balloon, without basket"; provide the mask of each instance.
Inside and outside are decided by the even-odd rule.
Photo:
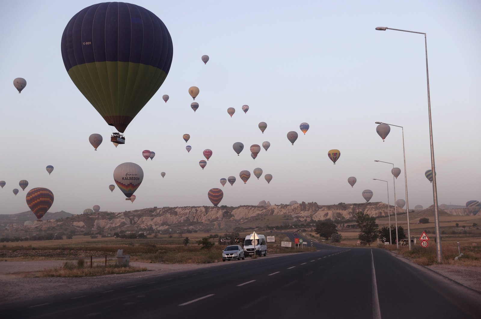
[[[152,12],[104,2],[76,13],[62,35],[70,78],[105,122],[124,132],[157,92],[172,63],[172,39]]]

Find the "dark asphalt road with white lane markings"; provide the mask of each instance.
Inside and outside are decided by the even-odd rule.
[[[481,318],[481,294],[389,252],[318,247],[108,290],[72,287],[62,297],[2,305],[0,318]]]

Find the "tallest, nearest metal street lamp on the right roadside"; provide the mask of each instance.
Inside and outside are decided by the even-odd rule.
[[[401,29],[392,29],[386,26],[378,26],[376,28],[376,30],[380,30],[380,31],[386,31],[387,29],[395,30],[395,31],[410,32],[410,33],[418,33],[418,34],[424,35],[424,49],[426,52],[426,80],[428,84],[428,114],[429,114],[429,139],[430,139],[430,147],[431,147],[432,198],[434,201],[434,223],[435,223],[434,226],[436,229],[436,253],[438,257],[438,262],[441,263],[443,261],[443,255],[441,250],[441,232],[439,231],[438,191],[436,188],[436,172],[434,167],[435,166],[434,165],[434,145],[432,142],[431,100],[430,100],[430,94],[429,94],[429,72],[428,72],[428,42],[426,40],[426,33],[401,30]],[[407,201],[407,197],[406,197],[406,201]],[[409,238],[409,242],[411,242],[410,238]]]

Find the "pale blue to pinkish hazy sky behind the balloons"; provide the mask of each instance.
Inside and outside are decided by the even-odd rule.
[[[409,208],[433,204],[424,36],[439,204],[481,201],[481,2],[473,1],[132,1],[156,14],[172,37],[170,72],[128,126],[117,148],[107,125],[78,91],[63,65],[60,43],[71,17],[96,2],[6,1],[0,11],[0,213],[29,210],[25,195],[49,188],[49,211],[79,214],[164,206],[317,202],[321,205],[394,202],[392,165],[401,168],[397,199],[405,199],[402,130],[382,142],[376,121],[404,127]],[[201,61],[207,54],[206,65]],[[22,94],[13,79],[27,81]],[[190,86],[200,105],[190,108]],[[167,103],[162,96],[168,94]],[[249,105],[244,114],[241,106]],[[227,109],[234,107],[231,118]],[[266,122],[264,134],[258,128]],[[307,122],[304,135],[299,124]],[[287,133],[299,138],[291,145]],[[94,151],[89,135],[103,143]],[[190,134],[186,144],[182,135]],[[268,151],[250,156],[252,144]],[[240,156],[232,144],[242,142]],[[188,153],[186,145],[192,146]],[[213,151],[204,170],[203,150]],[[142,151],[155,152],[145,160]],[[339,149],[335,165],[330,149]],[[109,184],[124,162],[139,164],[144,179],[134,203]],[[45,167],[53,165],[49,175]],[[254,168],[270,173],[257,180]],[[251,178],[243,184],[239,172]],[[160,173],[165,172],[165,178]],[[219,183],[233,175],[233,186]],[[354,176],[351,187],[347,178]],[[29,182],[25,191],[20,180]],[[13,188],[20,189],[17,196]]]

